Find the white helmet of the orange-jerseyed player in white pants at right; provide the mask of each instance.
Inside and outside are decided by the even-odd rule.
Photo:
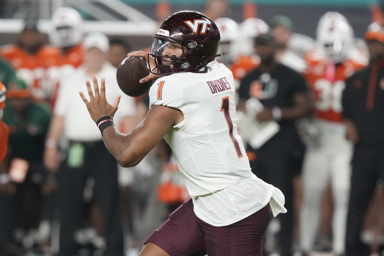
[[[316,41],[335,63],[341,63],[353,48],[354,33],[348,20],[338,12],[327,12],[319,20]]]

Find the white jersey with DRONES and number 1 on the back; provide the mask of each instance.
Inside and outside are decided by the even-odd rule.
[[[200,219],[215,226],[229,225],[270,201],[276,188],[253,175],[237,134],[233,75],[224,64],[212,61],[203,72],[159,78],[152,85],[149,97],[151,106],[173,107],[184,114],[184,120],[169,129],[164,139],[172,149]],[[253,182],[245,186],[243,181],[250,180]],[[247,186],[257,191],[257,195],[244,193]],[[227,192],[223,196],[221,193],[230,187],[232,198]],[[260,198],[255,200],[255,197]],[[231,201],[224,207],[225,198]],[[239,205],[234,205],[233,200]],[[239,206],[245,208],[238,211]],[[227,216],[220,212],[222,208]]]

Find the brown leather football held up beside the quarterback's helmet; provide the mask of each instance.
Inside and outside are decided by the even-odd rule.
[[[125,58],[116,71],[116,80],[121,91],[125,94],[137,97],[149,90],[153,81],[141,84],[140,79],[149,75],[147,60],[139,56]]]

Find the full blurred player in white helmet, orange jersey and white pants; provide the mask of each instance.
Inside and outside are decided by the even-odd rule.
[[[354,35],[337,12],[324,14],[316,32],[318,49],[306,53],[305,73],[314,94],[316,141],[308,144],[303,165],[304,201],[300,220],[301,250],[310,253],[319,225],[320,201],[331,180],[334,212],[333,252],[344,253],[352,145],[345,136],[341,94],[345,80],[362,68],[349,58]]]

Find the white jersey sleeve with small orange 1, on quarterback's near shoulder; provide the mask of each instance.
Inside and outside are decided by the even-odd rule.
[[[171,76],[162,77],[155,81],[149,89],[149,106],[163,105],[180,109],[183,104],[182,84]]]

